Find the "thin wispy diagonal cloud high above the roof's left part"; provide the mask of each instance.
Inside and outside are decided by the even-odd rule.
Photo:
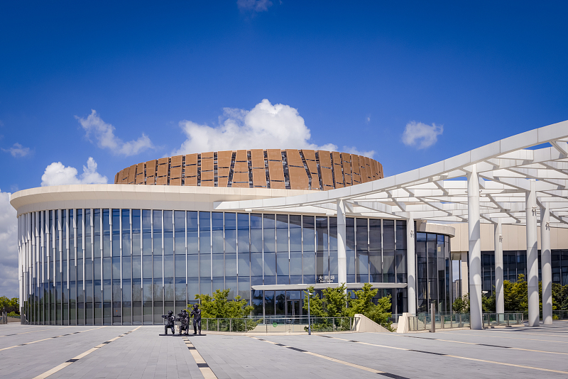
[[[91,109],[91,114],[87,116],[87,119],[78,116],[75,116],[75,119],[79,120],[84,131],[87,132],[85,134],[87,138],[94,136],[99,148],[107,148],[114,155],[136,155],[147,148],[154,147],[150,138],[144,133],[136,141],[123,142],[120,138],[114,136],[114,126],[105,123],[94,109]]]

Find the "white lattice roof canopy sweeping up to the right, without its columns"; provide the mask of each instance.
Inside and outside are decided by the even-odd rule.
[[[539,145],[542,145],[539,146]],[[534,146],[534,150],[529,150]],[[351,187],[293,197],[215,202],[217,210],[334,215],[343,199],[348,216],[467,221],[467,176],[479,175],[481,221],[525,223],[525,194],[536,180],[538,204],[550,224],[568,227],[568,121],[517,134],[447,160]]]

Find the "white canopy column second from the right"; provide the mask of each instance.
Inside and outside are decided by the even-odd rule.
[[[537,246],[537,196],[536,182],[530,180],[530,191],[526,194],[527,218],[527,285],[528,285],[528,326],[540,324],[538,304],[538,246]]]

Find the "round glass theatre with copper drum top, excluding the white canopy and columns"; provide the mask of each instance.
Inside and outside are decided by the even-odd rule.
[[[117,173],[114,185],[18,192],[21,251],[33,257],[22,275],[24,313],[46,324],[162,324],[162,314],[195,294],[229,288],[253,315],[301,315],[308,285],[338,283],[337,217],[215,212],[215,202],[349,187],[382,172],[375,160],[346,153],[237,150],[140,163]],[[442,309],[450,303],[450,235],[417,236],[422,255],[433,254],[420,267],[426,274],[428,263],[437,266],[428,290]],[[392,296],[395,314],[405,312],[405,257],[406,221],[346,217],[349,290],[371,282],[378,297]]]

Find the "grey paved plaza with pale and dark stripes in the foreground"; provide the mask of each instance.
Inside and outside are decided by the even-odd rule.
[[[161,326],[0,325],[0,378],[568,377],[568,322],[435,334],[160,333]]]

